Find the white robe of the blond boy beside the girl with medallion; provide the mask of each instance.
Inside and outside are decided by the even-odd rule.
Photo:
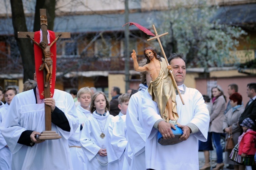
[[[76,129],[76,132],[69,138],[70,156],[74,170],[87,170],[88,159],[85,156],[80,145],[80,136],[82,133],[82,130],[80,130],[80,126],[92,114],[89,110],[85,110],[84,108],[82,108],[80,104],[76,106],[76,113],[78,115],[79,126]]]

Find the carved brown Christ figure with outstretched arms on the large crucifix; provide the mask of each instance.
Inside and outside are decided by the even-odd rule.
[[[41,64],[41,66],[39,67],[39,70],[41,71],[45,68],[47,71],[47,75],[46,75],[46,79],[45,79],[45,87],[47,87],[48,83],[50,82],[50,80],[52,78],[52,58],[51,58],[50,48],[59,39],[59,37],[61,37],[61,33],[58,35],[58,37],[55,38],[55,40],[50,44],[50,46],[48,46],[45,41],[41,41],[38,44],[38,42],[36,42],[28,34],[27,34],[27,37],[30,38],[33,41],[33,43],[35,43],[37,46],[39,46],[43,51],[43,55],[44,55],[44,58],[42,58],[43,64]]]

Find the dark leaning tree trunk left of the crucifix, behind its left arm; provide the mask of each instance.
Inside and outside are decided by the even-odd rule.
[[[27,79],[33,80],[35,72],[35,58],[33,54],[33,46],[29,38],[18,38],[18,31],[27,32],[26,20],[23,11],[22,0],[11,0],[11,12],[13,21],[14,36],[20,50],[23,65],[23,82]]]

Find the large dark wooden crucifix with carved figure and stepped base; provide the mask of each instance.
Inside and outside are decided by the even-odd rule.
[[[70,38],[70,33],[54,33],[55,37],[57,38],[52,40],[50,45],[48,45],[49,44],[48,39],[51,39],[51,38],[49,38],[50,35],[48,34],[48,31],[47,31],[48,24],[47,24],[46,9],[40,9],[40,24],[41,24],[41,34],[42,34],[41,42],[37,42],[33,39],[35,35],[34,32],[18,32],[18,38],[30,38],[33,41],[33,43],[38,46],[39,49],[41,48],[41,53],[43,55],[41,60],[39,60],[39,62],[42,63],[43,61],[43,63],[39,66],[39,69],[37,69],[37,66],[36,66],[36,69],[37,69],[36,72],[40,73],[39,71],[43,71],[43,82],[42,82],[43,84],[39,84],[39,82],[37,82],[38,83],[37,86],[38,88],[39,86],[43,88],[42,93],[40,93],[40,90],[39,90],[39,93],[40,95],[43,96],[43,99],[45,99],[45,98],[53,97],[54,88],[55,88],[56,56],[54,57],[50,49],[52,49],[51,47],[58,40],[58,38]],[[40,38],[40,34],[39,34],[39,38]],[[56,48],[55,48],[55,51],[56,51]],[[41,135],[39,135],[36,138],[37,140],[49,140],[49,139],[61,138],[61,136],[58,133],[52,131],[51,114],[52,114],[51,107],[45,104],[45,131],[43,131]]]

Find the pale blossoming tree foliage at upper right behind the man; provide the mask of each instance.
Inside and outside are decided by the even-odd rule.
[[[157,29],[158,33],[169,32],[168,36],[161,38],[165,47],[176,40],[177,51],[173,52],[184,53],[187,67],[204,67],[207,70],[212,66],[223,66],[229,51],[236,50],[239,45],[236,38],[247,34],[240,27],[211,21],[218,6],[208,5],[206,0],[185,0],[174,6],[158,16],[164,22]]]

